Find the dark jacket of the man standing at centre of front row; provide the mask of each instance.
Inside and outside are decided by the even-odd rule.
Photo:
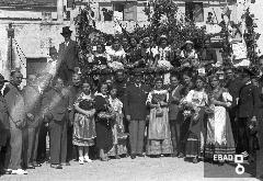
[[[135,83],[127,87],[124,99],[124,109],[126,115],[130,115],[132,120],[146,120],[146,116],[149,113],[146,105],[149,91],[149,87],[145,84],[141,84],[140,88],[136,87]]]

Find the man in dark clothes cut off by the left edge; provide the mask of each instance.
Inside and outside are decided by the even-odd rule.
[[[2,169],[8,168],[9,158],[8,152],[10,151],[10,124],[8,114],[8,104],[3,98],[1,90],[3,89],[4,77],[0,73],[0,173]]]

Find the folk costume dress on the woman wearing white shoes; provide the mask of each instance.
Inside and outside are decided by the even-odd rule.
[[[81,93],[80,97],[77,99],[76,104],[79,104],[80,106],[81,102],[85,101],[88,104],[90,104],[90,108],[80,108],[85,111],[90,111],[93,109],[93,100],[94,99],[91,95],[85,95],[84,93]],[[84,103],[82,103],[82,106],[83,104]],[[88,117],[84,114],[76,113],[73,123],[73,145],[93,146],[95,137],[96,133],[94,117]]]

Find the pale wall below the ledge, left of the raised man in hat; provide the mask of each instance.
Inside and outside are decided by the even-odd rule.
[[[8,66],[8,23],[0,22],[0,72],[9,78],[10,69]],[[26,58],[47,58],[50,46],[58,49],[59,44],[64,41],[60,35],[61,29],[69,25],[73,31],[72,38],[75,38],[75,26],[70,22],[64,24],[42,24],[41,22],[12,22],[14,29],[14,63],[15,67],[22,68],[22,73],[26,76]]]

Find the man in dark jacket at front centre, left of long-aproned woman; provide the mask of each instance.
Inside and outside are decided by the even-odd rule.
[[[126,118],[129,122],[132,159],[142,156],[146,117],[149,114],[146,106],[149,88],[142,84],[141,80],[141,72],[135,72],[135,82],[127,87],[124,101]]]

